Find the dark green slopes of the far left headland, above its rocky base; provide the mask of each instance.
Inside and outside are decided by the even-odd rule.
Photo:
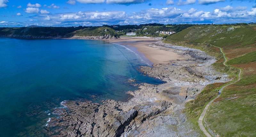
[[[21,28],[2,28],[0,36],[16,35],[16,36],[116,36],[113,29],[108,27],[21,27]]]

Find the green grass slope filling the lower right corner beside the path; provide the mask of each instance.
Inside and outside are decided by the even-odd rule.
[[[206,122],[220,136],[255,136],[256,75],[228,86],[209,107]]]

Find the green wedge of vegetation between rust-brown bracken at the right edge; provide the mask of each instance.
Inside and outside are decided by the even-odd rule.
[[[256,61],[256,51],[247,53],[241,57],[238,58],[234,58],[230,61],[228,61],[229,65],[233,65],[233,64],[247,64],[249,62],[253,62]]]

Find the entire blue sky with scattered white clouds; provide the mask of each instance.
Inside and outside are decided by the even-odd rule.
[[[0,27],[256,22],[256,0],[0,0]]]

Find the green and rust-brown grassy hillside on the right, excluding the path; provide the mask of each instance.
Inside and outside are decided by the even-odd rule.
[[[205,117],[205,125],[214,136],[256,136],[256,27],[197,25],[170,35],[165,42],[180,46],[194,47],[215,56],[218,61],[212,66],[228,73],[236,79],[242,68],[241,80],[226,87],[220,98],[210,105]],[[221,47],[227,57],[224,66]],[[193,101],[186,104],[186,112],[196,123],[204,105],[217,96],[216,89],[226,83],[214,83],[206,88]]]

